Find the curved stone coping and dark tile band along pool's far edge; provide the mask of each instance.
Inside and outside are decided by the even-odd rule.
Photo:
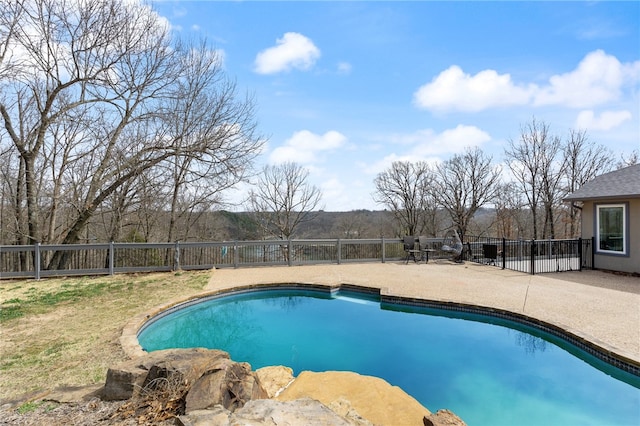
[[[554,337],[564,340],[569,345],[594,356],[613,367],[624,372],[640,377],[640,362],[638,362],[631,354],[625,353],[620,349],[588,336],[579,330],[571,329],[557,322],[543,321],[532,316],[521,313],[512,312],[505,309],[488,307],[469,303],[460,303],[450,300],[433,300],[426,298],[407,297],[392,294],[387,287],[369,287],[354,284],[318,284],[318,283],[302,283],[302,282],[283,282],[283,283],[261,283],[239,285],[236,287],[218,289],[214,291],[203,292],[188,298],[176,299],[167,304],[158,306],[151,311],[140,314],[132,318],[124,327],[120,337],[120,344],[125,354],[130,358],[143,356],[146,352],[138,342],[139,333],[149,325],[154,319],[158,319],[164,315],[170,314],[181,308],[191,306],[196,303],[203,302],[208,299],[230,296],[234,294],[242,294],[251,291],[268,290],[268,289],[301,289],[301,290],[318,290],[323,292],[337,291],[355,291],[367,293],[380,297],[380,303],[388,303],[398,306],[422,307],[441,309],[452,312],[463,312],[487,316],[490,318],[511,321],[516,324],[533,327],[539,331],[548,333]]]

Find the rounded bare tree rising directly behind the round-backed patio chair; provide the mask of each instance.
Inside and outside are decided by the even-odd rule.
[[[438,165],[435,196],[463,240],[478,209],[494,200],[499,183],[500,170],[478,147]]]

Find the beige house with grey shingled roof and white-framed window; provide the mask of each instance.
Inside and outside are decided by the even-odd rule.
[[[640,274],[640,164],[597,176],[564,201],[583,203],[594,268]]]

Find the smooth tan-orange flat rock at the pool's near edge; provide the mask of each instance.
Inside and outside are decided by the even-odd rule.
[[[292,401],[308,397],[327,406],[341,400],[362,417],[378,425],[422,425],[431,412],[397,386],[371,376],[348,371],[303,371],[276,399]]]

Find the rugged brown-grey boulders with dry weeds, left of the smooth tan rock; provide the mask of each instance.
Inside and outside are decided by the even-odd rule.
[[[156,423],[220,405],[230,412],[267,393],[247,363],[208,349],[152,352],[112,368],[107,374],[103,399],[126,398],[121,417]]]

